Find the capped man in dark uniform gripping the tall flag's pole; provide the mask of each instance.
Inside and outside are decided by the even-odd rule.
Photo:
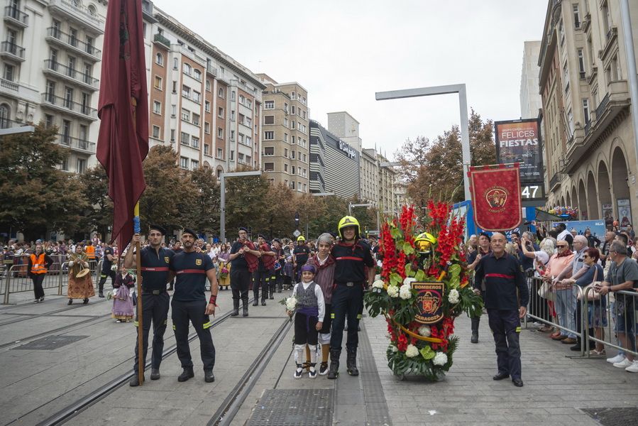
[[[148,352],[148,334],[150,332],[150,324],[153,322],[153,351],[150,356],[150,380],[158,380],[160,378],[160,364],[162,363],[162,354],[164,351],[164,332],[166,331],[166,322],[168,320],[168,307],[170,297],[166,291],[166,283],[168,281],[170,259],[175,255],[172,250],[162,247],[162,242],[166,230],[159,225],[151,225],[148,230],[148,246],[140,251],[141,271],[142,271],[142,362],[146,363],[146,354]],[[141,241],[140,234],[133,235],[131,247],[126,251],[124,256],[124,268],[135,269],[137,267],[136,257],[133,253],[133,247]],[[135,322],[138,326],[138,322]],[[138,327],[138,333],[140,332]],[[137,375],[138,363],[138,344],[136,339],[135,345],[135,361],[133,362],[133,371],[136,373],[131,381],[130,386],[139,386],[139,378]]]

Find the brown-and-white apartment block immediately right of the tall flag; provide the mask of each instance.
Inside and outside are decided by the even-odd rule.
[[[143,8],[150,145],[170,144],[184,170],[260,168],[265,85],[150,1]]]

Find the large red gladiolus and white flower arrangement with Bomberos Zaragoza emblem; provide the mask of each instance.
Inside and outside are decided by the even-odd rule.
[[[458,342],[454,319],[462,312],[480,316],[483,301],[469,285],[460,249],[464,219],[452,217],[451,204],[445,202],[430,201],[427,210],[425,231],[434,242],[425,251],[417,241],[413,206],[402,207],[398,220],[383,224],[383,268],[365,294],[365,306],[371,317],[385,316],[392,372],[438,380],[452,366]],[[439,291],[419,290],[430,286]]]

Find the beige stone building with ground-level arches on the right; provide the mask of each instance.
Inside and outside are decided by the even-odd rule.
[[[629,4],[638,28],[638,3]],[[539,92],[548,204],[578,207],[581,219],[630,223],[637,157],[620,13],[619,0],[549,1]]]

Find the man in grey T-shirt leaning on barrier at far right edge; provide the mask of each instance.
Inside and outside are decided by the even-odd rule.
[[[600,295],[606,295],[612,291],[634,290],[638,288],[638,263],[627,258],[627,246],[620,241],[612,242],[609,254],[611,266],[605,277],[605,281],[598,288]],[[636,351],[636,318],[634,298],[629,295],[615,295],[614,317],[616,321],[615,331],[623,348]],[[638,373],[638,360],[629,352],[625,356],[617,356],[607,361],[615,361],[614,366],[625,368],[630,373]]]

